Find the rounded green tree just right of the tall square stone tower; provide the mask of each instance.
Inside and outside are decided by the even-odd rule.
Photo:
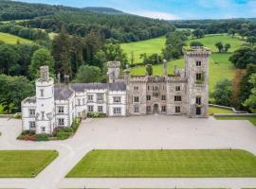
[[[222,106],[230,106],[232,94],[232,83],[229,79],[223,79],[217,82],[212,97],[215,103]]]

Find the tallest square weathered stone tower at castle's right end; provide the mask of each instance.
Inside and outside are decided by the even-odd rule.
[[[183,48],[187,84],[187,114],[189,117],[208,117],[209,57],[204,47]]]

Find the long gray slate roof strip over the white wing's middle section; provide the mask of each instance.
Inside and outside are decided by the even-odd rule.
[[[109,86],[109,87],[108,87]],[[85,89],[91,90],[104,90],[109,89],[110,91],[125,91],[126,84],[124,82],[110,83],[73,83],[70,84],[71,89],[76,92],[84,92]]]

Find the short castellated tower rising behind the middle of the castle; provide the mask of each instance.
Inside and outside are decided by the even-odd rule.
[[[108,61],[107,62],[108,82],[114,83],[119,78],[119,73],[120,73],[120,62]]]

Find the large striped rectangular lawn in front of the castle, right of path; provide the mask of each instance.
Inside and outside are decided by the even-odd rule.
[[[66,177],[256,177],[256,157],[239,149],[93,150]]]

